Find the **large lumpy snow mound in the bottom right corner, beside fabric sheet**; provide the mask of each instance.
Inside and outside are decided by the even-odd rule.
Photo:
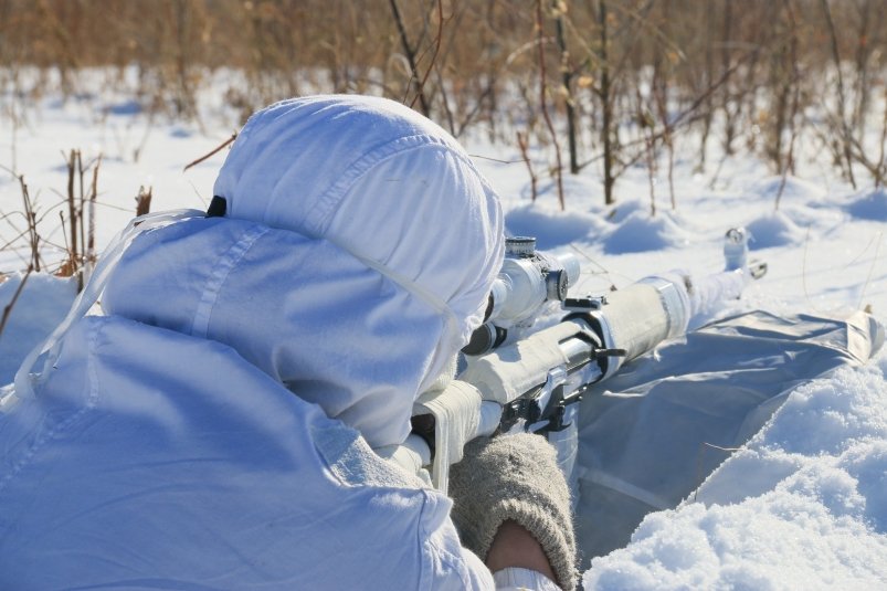
[[[748,447],[585,590],[874,589],[887,580],[887,381],[879,363],[802,386]],[[880,365],[881,367],[878,367]]]

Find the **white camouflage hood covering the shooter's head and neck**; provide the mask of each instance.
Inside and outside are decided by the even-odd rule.
[[[391,101],[297,98],[246,123],[214,193],[224,218],[136,239],[105,310],[231,346],[371,445],[401,443],[501,264],[467,155]]]

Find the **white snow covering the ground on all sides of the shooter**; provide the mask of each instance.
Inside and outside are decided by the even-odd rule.
[[[2,101],[9,101],[3,97]],[[7,104],[7,107],[10,103]],[[8,113],[10,109],[4,108]],[[64,243],[65,154],[84,162],[103,156],[98,173],[97,242],[106,244],[135,211],[139,187],[152,187],[152,210],[205,209],[224,152],[183,167],[228,139],[234,116],[212,110],[203,129],[151,118],[129,97],[44,98],[0,117],[0,165],[23,175],[41,233]],[[694,154],[678,151],[670,208],[664,169],[654,179],[657,214],[650,215],[645,168],[626,171],[615,207],[603,205],[599,170],[564,179],[567,211],[546,179],[529,200],[529,177],[517,149],[465,139],[468,151],[503,197],[508,229],[536,235],[541,249],[566,249],[583,261],[578,292],[605,292],[645,275],[722,265],[725,231],[746,225],[753,255],[769,274],[743,299],[711,316],[763,308],[775,313],[842,315],[868,308],[887,323],[887,192],[852,190],[811,154],[799,158],[775,209],[781,178],[751,157],[709,154],[695,171]],[[136,158],[136,151],[138,157]],[[548,152],[536,152],[546,170]],[[510,162],[510,163],[506,163]],[[715,178],[718,169],[717,178]],[[10,170],[0,170],[0,244],[23,228],[22,197]],[[862,181],[863,183],[865,181]],[[20,247],[17,247],[20,246]],[[0,250],[0,306],[17,292],[27,244]],[[61,252],[44,250],[49,261]],[[0,383],[63,315],[74,287],[29,277],[0,335]],[[792,393],[771,422],[674,510],[650,515],[623,549],[595,558],[587,589],[884,589],[887,588],[887,351],[863,368],[843,368]]]

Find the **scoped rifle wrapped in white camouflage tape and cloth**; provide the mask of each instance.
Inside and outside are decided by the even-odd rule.
[[[567,297],[579,278],[572,254],[538,252],[531,238],[506,241],[487,318],[463,349],[462,371],[413,407],[413,430],[400,446],[377,450],[446,492],[450,465],[474,437],[527,431],[546,435],[571,481],[578,444],[577,403],[594,383],[666,339],[684,335],[690,318],[711,304],[736,299],[767,273],[748,261],[748,234],[725,236],[725,271],[691,279],[683,271],[643,278],[608,295]],[[508,342],[528,328],[547,302],[567,313],[553,326]],[[430,474],[429,474],[430,472]]]

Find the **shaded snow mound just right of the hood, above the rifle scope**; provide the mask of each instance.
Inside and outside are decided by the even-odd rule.
[[[551,250],[577,241],[590,241],[603,233],[605,224],[596,215],[563,212],[537,204],[513,209],[505,226],[516,236],[536,236],[539,250]]]

